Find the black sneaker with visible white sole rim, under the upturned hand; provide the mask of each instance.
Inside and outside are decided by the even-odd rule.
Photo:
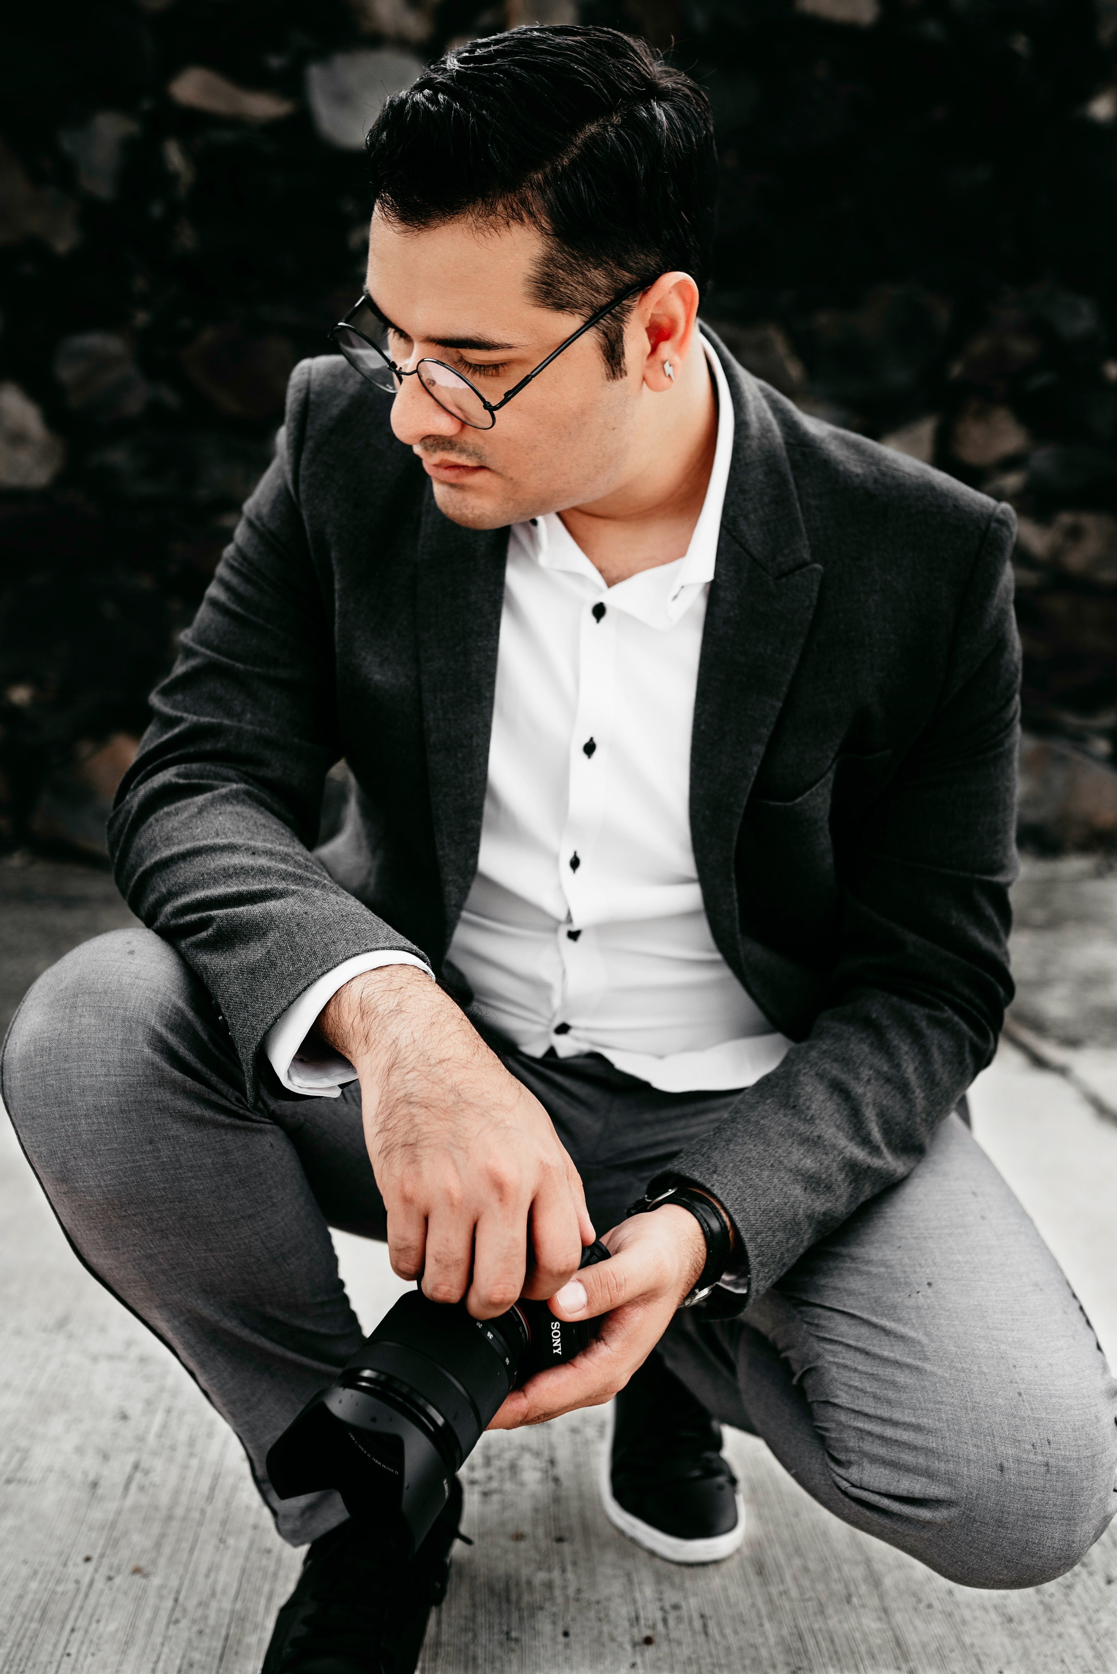
[[[671,1564],[717,1564],[744,1540],[721,1426],[657,1354],[612,1403],[600,1490],[609,1522]]]

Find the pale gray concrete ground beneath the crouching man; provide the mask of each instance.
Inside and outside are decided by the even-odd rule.
[[[1117,877],[1030,862],[1017,1038],[973,1090],[980,1142],[1117,1356]],[[105,874],[0,864],[0,1004],[67,946],[129,922]],[[1045,1066],[1047,1065],[1047,1066]],[[366,1324],[398,1294],[338,1237]],[[232,1436],[70,1254],[0,1128],[0,1666],[5,1674],[254,1674],[298,1553]],[[973,1592],[818,1508],[729,1433],[742,1550],[681,1570],[595,1490],[604,1413],[485,1438],[423,1674],[1117,1674],[1117,1525],[1070,1575]]]

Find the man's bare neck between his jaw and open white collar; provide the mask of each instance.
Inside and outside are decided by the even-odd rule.
[[[632,469],[620,487],[560,512],[607,586],[682,557],[702,511],[717,445],[717,402],[706,352],[694,348],[664,395],[640,390]]]

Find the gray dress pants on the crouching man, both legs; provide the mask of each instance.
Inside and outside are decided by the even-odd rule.
[[[614,1225],[726,1093],[669,1095],[599,1056],[508,1066],[550,1112]],[[328,1229],[383,1239],[360,1091],[271,1083],[249,1103],[206,989],[142,929],[35,983],[0,1090],[82,1262],[264,1455],[360,1343]],[[741,1319],[676,1316],[659,1354],[719,1420],[763,1436],[836,1517],[975,1587],[1063,1574],[1117,1498],[1117,1389],[1035,1227],[950,1117],[913,1173],[809,1249]]]

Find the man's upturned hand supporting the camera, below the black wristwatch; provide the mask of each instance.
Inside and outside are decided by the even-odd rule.
[[[537,1373],[513,1389],[490,1430],[542,1425],[610,1401],[652,1353],[706,1266],[702,1229],[677,1204],[622,1220],[602,1242],[610,1259],[585,1267],[550,1302],[558,1319],[605,1314],[600,1333],[567,1366]]]

